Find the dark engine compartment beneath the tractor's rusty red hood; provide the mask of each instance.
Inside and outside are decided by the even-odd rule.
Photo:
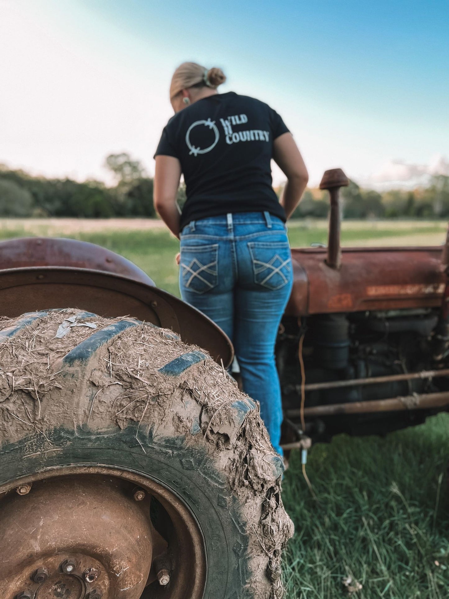
[[[300,416],[301,359],[309,414],[316,406],[447,390],[447,379],[435,370],[447,368],[448,360],[436,363],[433,358],[438,317],[435,308],[317,314],[301,320],[285,316],[276,358],[287,416]],[[422,374],[430,372],[433,376]],[[428,415],[428,410],[318,415],[308,420],[308,432],[321,438],[338,432],[382,434],[421,423]]]

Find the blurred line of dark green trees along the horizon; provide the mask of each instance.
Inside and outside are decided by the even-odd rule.
[[[116,181],[112,187],[101,181],[78,183],[71,179],[32,177],[0,165],[0,216],[155,217],[153,179],[141,163],[121,153],[108,156],[105,166]],[[178,201],[182,204],[184,200],[181,188]],[[341,205],[346,219],[448,218],[449,177],[435,176],[425,188],[382,193],[362,189],[351,181],[341,189]],[[325,218],[328,212],[328,193],[307,189],[293,218]]]

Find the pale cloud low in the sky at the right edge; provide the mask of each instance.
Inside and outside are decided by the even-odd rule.
[[[402,160],[385,162],[369,179],[374,184],[420,184],[432,175],[449,175],[449,160],[440,154],[432,156],[429,164],[409,164]]]

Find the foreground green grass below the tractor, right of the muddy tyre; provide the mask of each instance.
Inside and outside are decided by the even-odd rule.
[[[315,445],[307,473],[316,500],[292,453],[283,485],[296,528],[287,597],[344,597],[348,574],[363,586],[360,599],[449,596],[448,429],[440,414],[386,438]]]

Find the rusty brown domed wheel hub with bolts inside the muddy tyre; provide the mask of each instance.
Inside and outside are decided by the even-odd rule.
[[[95,475],[34,483],[0,512],[5,599],[139,599],[152,559],[150,497]]]

